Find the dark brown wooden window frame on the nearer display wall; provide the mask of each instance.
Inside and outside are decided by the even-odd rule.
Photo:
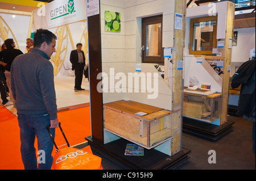
[[[146,56],[146,27],[150,24],[161,23],[161,36],[159,37],[158,49],[160,50],[160,56]],[[144,45],[144,50],[142,51],[142,63],[154,63],[154,64],[164,64],[164,48],[162,47],[163,39],[163,15],[151,16],[147,18],[142,18],[142,46]]]

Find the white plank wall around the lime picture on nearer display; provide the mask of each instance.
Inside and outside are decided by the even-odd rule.
[[[141,64],[139,51],[141,49],[141,19],[147,16],[163,14],[163,47],[173,47],[174,37],[174,0],[101,0],[101,45],[102,71],[108,74],[109,80],[113,77],[109,69],[118,72],[135,72],[135,65]],[[105,10],[121,12],[121,32],[105,32]],[[142,73],[158,73],[155,64],[142,64]],[[151,74],[153,77],[153,74]],[[157,79],[157,80],[156,80]],[[158,81],[158,98],[148,99],[152,94],[139,87],[139,92],[104,92],[104,103],[120,99],[130,99],[171,110],[172,91],[163,78],[152,78],[151,82]],[[119,79],[115,80],[115,83]],[[127,87],[126,87],[127,88]]]

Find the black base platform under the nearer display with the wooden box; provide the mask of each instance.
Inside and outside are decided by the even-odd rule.
[[[176,169],[190,158],[188,154],[191,150],[183,148],[178,153],[169,156],[155,149],[144,149],[144,156],[125,155],[126,144],[132,142],[123,138],[101,144],[93,140],[91,136],[85,137],[89,145],[94,151],[97,151],[104,157],[110,159],[123,169],[138,169],[138,170],[164,170]]]

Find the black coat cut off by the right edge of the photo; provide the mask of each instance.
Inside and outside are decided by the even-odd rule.
[[[253,151],[255,154],[255,58],[243,63],[231,79],[233,89],[241,85],[237,115],[253,121]]]

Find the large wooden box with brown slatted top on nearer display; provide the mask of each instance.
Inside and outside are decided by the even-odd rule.
[[[137,115],[138,112],[146,115]],[[154,148],[171,138],[171,111],[131,100],[107,103],[104,128],[144,148]]]

